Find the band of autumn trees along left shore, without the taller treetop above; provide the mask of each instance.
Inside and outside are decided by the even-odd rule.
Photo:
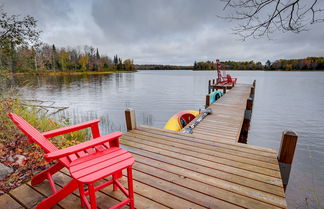
[[[134,70],[133,60],[122,60],[117,55],[114,59],[100,55],[98,48],[83,46],[59,48],[41,44],[34,48],[18,46],[6,54],[0,49],[0,69],[3,72],[86,72]]]

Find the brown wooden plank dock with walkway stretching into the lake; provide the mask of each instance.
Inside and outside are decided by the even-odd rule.
[[[193,134],[140,126],[123,135],[121,146],[136,160],[136,208],[287,208],[277,153],[234,143],[250,89],[251,85],[237,85],[211,105],[213,114]],[[70,178],[64,169],[55,174],[57,187]],[[127,187],[125,179],[122,183]],[[25,184],[0,196],[0,208],[34,208],[50,194],[46,181]],[[111,187],[97,192],[100,208],[123,198]],[[81,208],[78,191],[56,208]]]

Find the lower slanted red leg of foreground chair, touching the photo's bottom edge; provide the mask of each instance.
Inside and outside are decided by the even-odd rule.
[[[42,200],[36,207],[36,209],[49,209],[56,205],[59,201],[64,199],[66,196],[71,194],[74,190],[78,188],[78,182],[72,179],[67,185],[62,189],[52,194],[48,198]]]

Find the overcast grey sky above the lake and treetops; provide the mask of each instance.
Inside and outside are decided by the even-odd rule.
[[[91,45],[136,64],[196,61],[265,62],[324,56],[324,23],[300,34],[240,41],[235,23],[217,18],[219,0],[0,0],[9,14],[32,15],[41,39],[57,47]]]

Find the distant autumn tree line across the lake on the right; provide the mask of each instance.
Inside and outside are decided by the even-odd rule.
[[[221,62],[224,70],[324,70],[324,57],[307,57],[303,59],[280,59],[274,62],[270,60],[265,64],[261,62],[224,61]],[[193,70],[216,70],[212,61],[194,62]]]

